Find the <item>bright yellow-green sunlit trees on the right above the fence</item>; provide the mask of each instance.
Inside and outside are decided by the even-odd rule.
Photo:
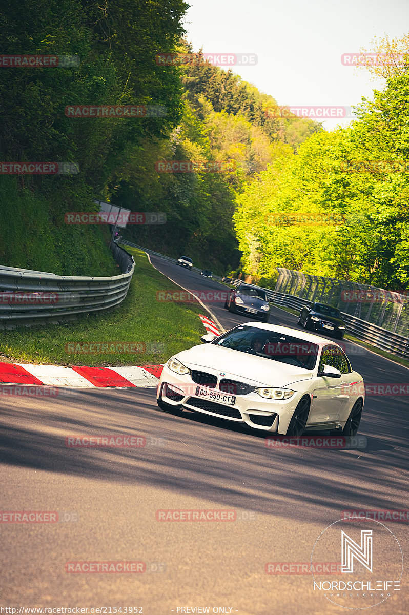
[[[313,135],[261,173],[235,216],[245,271],[409,288],[408,123],[405,73],[363,100],[350,127]]]

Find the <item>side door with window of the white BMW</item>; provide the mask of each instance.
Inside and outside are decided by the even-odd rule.
[[[338,346],[327,344],[322,349],[318,372],[322,370],[323,365],[340,370],[341,378],[317,376],[317,386],[312,392],[309,426],[337,423],[348,408],[349,394],[346,385],[351,379],[348,379],[351,365],[346,355]]]

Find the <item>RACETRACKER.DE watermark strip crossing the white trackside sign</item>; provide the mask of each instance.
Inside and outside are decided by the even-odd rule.
[[[66,212],[66,224],[165,224],[164,212]]]

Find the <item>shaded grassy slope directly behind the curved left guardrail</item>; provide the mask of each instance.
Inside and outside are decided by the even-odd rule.
[[[72,207],[64,199],[53,203],[34,190],[19,189],[17,177],[2,175],[0,204],[1,265],[60,276],[121,273],[108,249],[109,229],[98,224],[66,224],[64,213]],[[90,200],[81,207],[89,211],[96,206]]]

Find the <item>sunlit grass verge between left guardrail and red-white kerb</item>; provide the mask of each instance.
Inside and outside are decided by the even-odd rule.
[[[145,253],[127,250],[135,258],[135,273],[120,306],[62,325],[0,331],[0,360],[93,367],[149,365],[164,363],[172,354],[200,344],[205,330],[197,314],[203,312],[202,306],[157,301],[158,290],[180,288],[156,271]],[[139,352],[73,354],[66,350],[69,343],[116,342],[139,344]],[[140,352],[141,344],[145,352]]]

